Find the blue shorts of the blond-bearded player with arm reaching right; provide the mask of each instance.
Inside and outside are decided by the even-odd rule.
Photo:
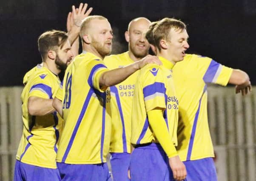
[[[112,181],[107,163],[65,164],[57,162],[57,166],[63,181]]]

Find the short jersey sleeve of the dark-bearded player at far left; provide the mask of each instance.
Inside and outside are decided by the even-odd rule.
[[[36,76],[32,82],[32,86],[29,90],[28,97],[35,96],[45,99],[52,98],[52,84],[53,81],[50,78],[50,75],[43,74]]]

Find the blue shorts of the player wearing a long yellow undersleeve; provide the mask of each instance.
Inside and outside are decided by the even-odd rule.
[[[131,153],[131,181],[173,181],[168,156],[160,144],[136,147]]]

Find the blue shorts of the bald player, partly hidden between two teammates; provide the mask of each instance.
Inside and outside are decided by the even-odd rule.
[[[130,153],[111,153],[111,168],[114,181],[129,181]]]

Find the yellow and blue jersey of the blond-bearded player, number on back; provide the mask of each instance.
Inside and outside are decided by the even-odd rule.
[[[99,81],[107,70],[99,57],[88,52],[76,56],[68,66],[63,89],[56,96],[63,102],[64,119],[57,162],[106,162],[111,136],[110,91],[100,89]]]

